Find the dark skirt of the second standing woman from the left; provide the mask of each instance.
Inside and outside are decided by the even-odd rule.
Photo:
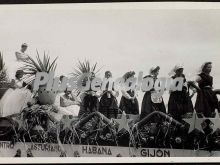
[[[99,112],[105,115],[107,118],[117,118],[118,116],[118,102],[117,99],[110,94],[110,98],[108,98],[108,94],[105,93],[99,102]]]

